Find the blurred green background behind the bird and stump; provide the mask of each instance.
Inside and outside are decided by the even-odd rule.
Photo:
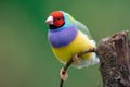
[[[0,87],[58,87],[63,66],[49,46],[48,15],[63,10],[95,39],[130,30],[130,0],[0,0]],[[99,66],[70,67],[65,87],[102,86]]]

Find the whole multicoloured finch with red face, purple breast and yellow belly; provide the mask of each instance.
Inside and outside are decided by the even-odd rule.
[[[73,55],[96,48],[88,28],[66,12],[52,12],[46,23],[49,25],[48,39],[52,51],[64,64]],[[94,52],[91,52],[83,54],[72,65],[81,69],[96,63],[99,63],[99,59]]]

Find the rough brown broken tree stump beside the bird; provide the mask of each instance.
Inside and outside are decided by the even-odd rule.
[[[130,41],[121,32],[100,41],[98,54],[104,87],[130,87]]]

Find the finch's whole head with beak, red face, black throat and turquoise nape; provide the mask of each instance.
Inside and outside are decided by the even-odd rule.
[[[54,11],[47,18],[46,23],[50,26],[50,29],[60,29],[73,25],[73,16],[63,11]]]

